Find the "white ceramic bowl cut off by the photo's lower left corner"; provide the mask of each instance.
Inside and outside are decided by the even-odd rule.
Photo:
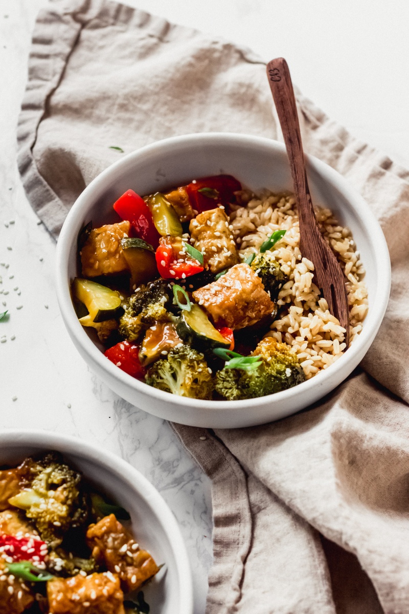
[[[166,570],[143,593],[156,614],[193,614],[188,555],[175,517],[159,492],[136,469],[115,454],[84,441],[44,431],[0,433],[0,465],[17,465],[26,456],[56,450],[101,492],[129,511],[132,530],[142,547]]]

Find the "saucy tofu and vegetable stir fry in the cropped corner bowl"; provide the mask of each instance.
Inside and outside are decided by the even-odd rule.
[[[0,512],[0,612],[150,611],[139,589],[162,565],[122,524],[128,511],[56,452],[1,470],[0,483],[10,476],[19,481]]]

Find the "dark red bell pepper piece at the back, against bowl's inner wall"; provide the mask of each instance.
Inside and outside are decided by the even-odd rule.
[[[186,185],[189,203],[194,210],[201,213],[208,209],[215,209],[218,205],[226,206],[235,202],[234,192],[242,189],[237,179],[231,175],[216,175],[202,177]]]

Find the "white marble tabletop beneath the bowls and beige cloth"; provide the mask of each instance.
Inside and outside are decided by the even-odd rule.
[[[118,398],[78,357],[53,289],[55,244],[37,225],[18,176],[15,125],[32,27],[46,4],[0,0],[0,262],[9,265],[0,265],[0,312],[10,313],[0,322],[0,336],[7,336],[0,344],[0,428],[40,427],[76,435],[120,454],[147,476],[182,529],[200,614],[212,560],[208,480],[166,423]],[[305,95],[359,138],[409,165],[407,0],[128,4],[220,34],[266,60],[285,56]],[[10,220],[15,223],[6,227]]]

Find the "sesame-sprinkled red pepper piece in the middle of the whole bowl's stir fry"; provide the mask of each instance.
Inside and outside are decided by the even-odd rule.
[[[164,279],[185,279],[203,271],[203,266],[188,252],[183,251],[180,237],[162,236],[156,250],[156,266]]]

